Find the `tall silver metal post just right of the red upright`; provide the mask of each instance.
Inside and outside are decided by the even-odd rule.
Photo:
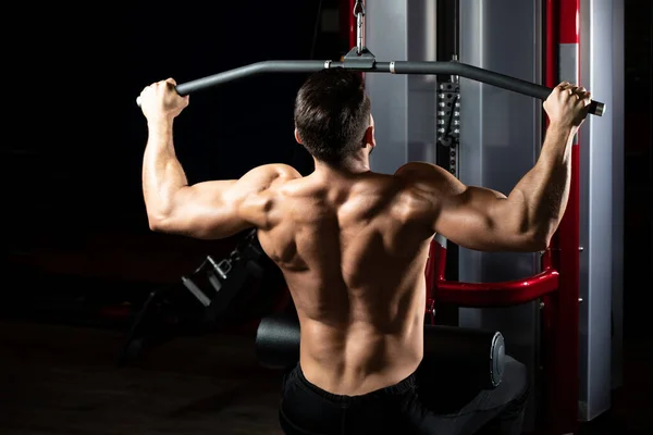
[[[580,3],[580,80],[594,95],[601,95],[607,108],[621,99],[615,90],[614,1],[579,0]],[[623,47],[617,50],[624,50]],[[621,55],[621,54],[619,54]],[[623,64],[620,69],[623,69]],[[620,104],[620,103],[619,103]],[[617,107],[619,105],[617,104]],[[621,258],[623,234],[615,215],[623,213],[624,139],[615,135],[614,111],[599,120],[588,116],[580,135],[580,304],[579,339],[579,418],[593,420],[612,405],[612,344],[617,306],[613,304],[613,273]],[[615,157],[617,160],[615,161]],[[619,283],[620,284],[620,283]]]

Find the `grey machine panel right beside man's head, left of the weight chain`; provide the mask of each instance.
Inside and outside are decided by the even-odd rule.
[[[365,44],[380,61],[435,60],[435,0],[369,1],[366,22]],[[408,161],[434,163],[434,77],[367,74],[366,87],[378,142],[372,170],[392,174]]]

